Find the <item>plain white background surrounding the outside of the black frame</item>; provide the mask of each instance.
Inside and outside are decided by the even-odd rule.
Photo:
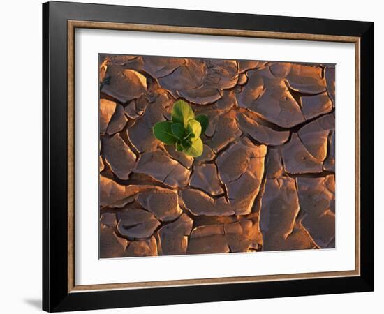
[[[135,0],[97,1],[163,8],[216,10],[224,12],[325,17],[375,22],[375,194],[384,188],[380,167],[381,117],[384,107],[384,20],[380,1],[334,1],[313,3],[307,0]],[[41,301],[41,0],[3,1],[0,19],[0,108],[2,130],[1,226],[0,226],[0,312],[33,313]],[[5,110],[4,110],[5,109]],[[374,174],[372,174],[374,175]],[[4,202],[5,200],[5,202]],[[295,297],[232,301],[211,304],[187,304],[148,308],[91,311],[88,313],[379,313],[384,298],[384,223],[383,204],[375,200],[375,292],[332,296]]]

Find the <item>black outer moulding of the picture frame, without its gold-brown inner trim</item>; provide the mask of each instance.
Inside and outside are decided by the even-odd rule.
[[[68,293],[68,20],[360,37],[360,276]],[[43,3],[42,92],[43,310],[75,311],[374,290],[373,22],[89,3]]]

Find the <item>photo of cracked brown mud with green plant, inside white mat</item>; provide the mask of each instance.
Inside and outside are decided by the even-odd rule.
[[[100,258],[335,248],[334,64],[98,67]]]

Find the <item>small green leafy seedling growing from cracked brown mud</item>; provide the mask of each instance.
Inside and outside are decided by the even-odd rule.
[[[191,106],[177,100],[172,107],[172,121],[161,121],[154,125],[154,136],[167,145],[175,145],[177,151],[191,157],[202,154],[200,135],[208,127],[208,117],[200,114],[195,117]]]

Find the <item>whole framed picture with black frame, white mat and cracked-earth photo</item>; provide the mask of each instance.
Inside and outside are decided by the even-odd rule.
[[[43,4],[43,309],[374,290],[374,23]]]

